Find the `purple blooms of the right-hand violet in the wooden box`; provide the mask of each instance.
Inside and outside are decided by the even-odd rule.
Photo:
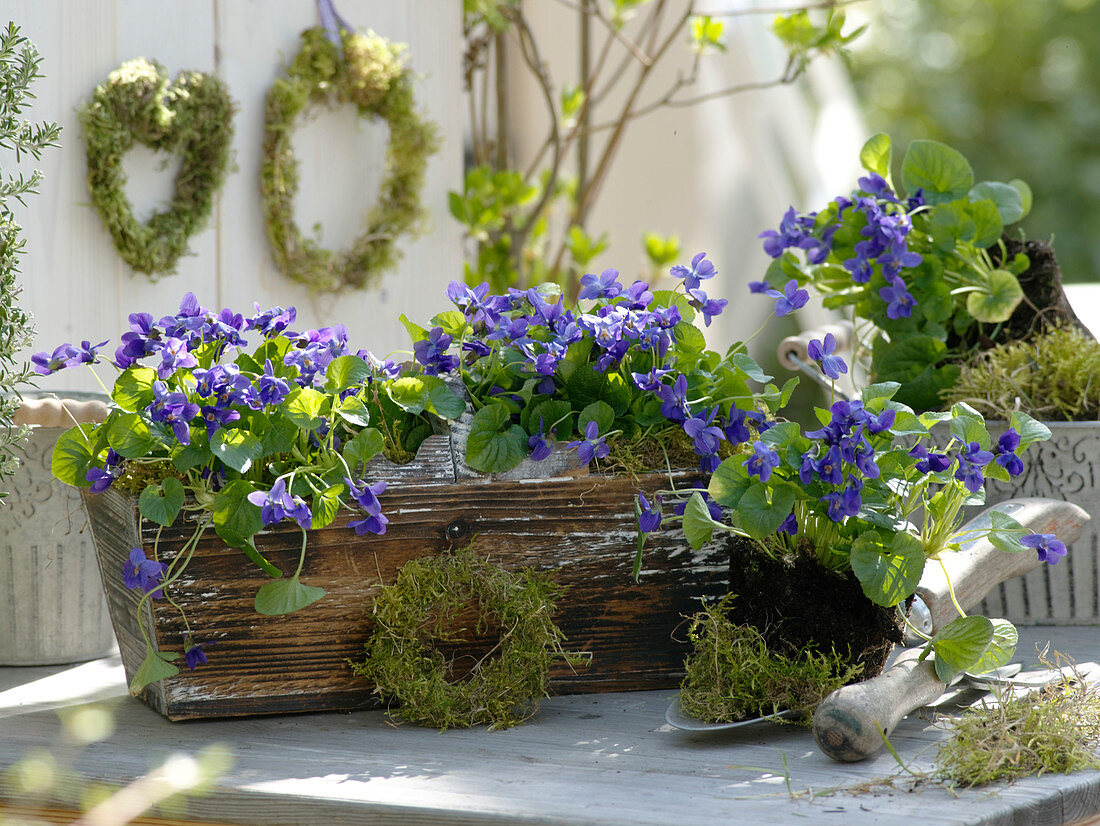
[[[670,271],[679,280],[676,293],[707,326],[727,305],[726,299],[714,298],[704,289],[716,272],[705,253],[696,254],[690,265]],[[799,293],[789,300],[801,306],[805,290]],[[708,398],[701,389],[695,371],[698,354],[685,357],[673,348],[678,326],[691,319],[683,317],[671,296],[658,301],[646,282],[624,285],[615,269],[584,275],[579,299],[594,302],[587,310],[566,308],[561,296],[550,298],[536,288],[491,295],[487,284],[469,287],[452,282],[447,295],[463,312],[465,328],[444,331],[437,326],[425,331],[414,348],[414,357],[426,374],[464,374],[471,378],[468,385],[492,384],[499,398],[509,397],[518,374],[522,381],[536,379],[534,392],[538,396],[559,398],[571,395],[566,386],[570,379],[561,368],[564,361],[571,370],[581,363],[582,370],[596,374],[618,373],[634,388],[627,416],[651,399],[647,423],[679,425],[690,437],[703,472],[717,467],[723,442],[737,444],[749,438],[746,417],[758,426],[765,423],[759,412],[738,407],[751,406],[748,399],[734,404],[729,398]],[[586,353],[583,361],[578,357],[581,352]],[[488,375],[486,371],[502,363],[507,364],[507,371]],[[505,372],[509,375],[503,375]],[[575,372],[569,375],[575,376]],[[521,420],[516,414],[514,418]],[[587,463],[606,455],[604,439],[610,423],[588,420],[571,431],[542,417],[527,423],[526,447],[531,459],[542,460],[553,449],[549,431],[563,441],[575,432],[581,438],[569,441],[566,449],[575,450],[579,460]]]

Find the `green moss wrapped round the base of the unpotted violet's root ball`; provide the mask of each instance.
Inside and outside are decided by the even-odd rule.
[[[704,605],[691,618],[692,653],[684,662],[680,707],[708,723],[734,723],[790,709],[809,723],[813,709],[862,671],[835,651],[806,648],[785,656],[768,648],[751,626],[727,616],[732,599]]]

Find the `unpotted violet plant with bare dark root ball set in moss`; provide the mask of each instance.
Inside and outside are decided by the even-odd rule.
[[[824,342],[814,344],[837,377],[846,365]],[[1050,563],[1065,555],[1056,537],[1030,533],[1008,514],[963,528],[965,506],[983,502],[986,478],[1019,474],[1020,454],[1046,439],[1046,428],[1018,412],[990,449],[972,408],[917,415],[894,400],[899,389],[879,383],[818,409],[814,430],[766,421],[746,431],[743,451],[715,470],[707,496],[692,494],[682,515],[691,544],[715,531],[733,539],[730,595],[693,621],[695,653],[680,700],[688,715],[806,714],[843,682],[875,676],[902,640],[899,609],[925,568],[946,574],[945,560],[968,540],[983,536],[1009,553],[1036,549]],[[949,431],[942,447],[937,423]],[[957,618],[932,636],[910,626],[927,640],[939,679],[1008,662],[1012,624],[955,607]],[[807,683],[812,673],[818,678]]]

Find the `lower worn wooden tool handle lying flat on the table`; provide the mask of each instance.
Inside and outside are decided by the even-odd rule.
[[[930,657],[921,649],[902,651],[878,676],[837,689],[814,712],[814,739],[834,760],[864,760],[884,745],[901,718],[927,705],[944,691]]]

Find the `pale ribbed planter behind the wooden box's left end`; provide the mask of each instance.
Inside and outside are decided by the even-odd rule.
[[[102,421],[95,399],[32,399],[31,428],[0,508],[0,665],[81,662],[114,650],[107,602],[79,494],[51,472],[54,443],[78,421]]]

